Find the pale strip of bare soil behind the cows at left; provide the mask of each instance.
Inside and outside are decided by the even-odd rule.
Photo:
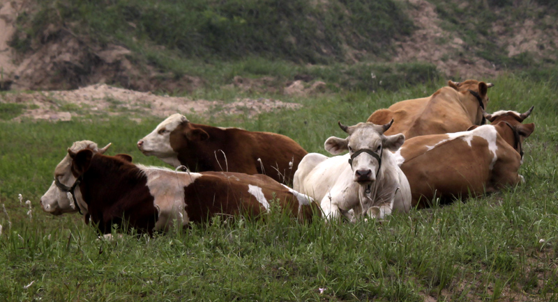
[[[196,114],[246,114],[255,116],[276,109],[296,109],[301,104],[286,103],[272,99],[239,98],[234,102],[191,100],[188,97],[169,97],[135,90],[95,84],[76,90],[52,90],[31,93],[6,93],[0,102],[24,104],[27,109],[13,120],[25,118],[43,120],[70,120],[85,114],[108,114],[158,116],[164,118],[173,113]]]

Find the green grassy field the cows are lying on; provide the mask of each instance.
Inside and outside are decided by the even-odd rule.
[[[0,301],[558,301],[558,85],[548,77],[492,79],[489,111],[535,109],[520,173],[527,183],[382,223],[265,223],[215,219],[155,237],[97,239],[79,215],[51,216],[38,200],[73,141],[113,143],[108,154],[163,165],[135,148],[160,119],[86,117],[0,121]],[[296,98],[297,111],[186,116],[194,122],[278,132],[325,154],[337,124],[432,94],[445,81]],[[198,92],[215,95],[214,91]],[[1,97],[1,95],[0,95]],[[21,204],[31,200],[29,206]],[[428,300],[430,299],[430,300]]]

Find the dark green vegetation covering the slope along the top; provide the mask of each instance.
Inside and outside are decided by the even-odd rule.
[[[188,58],[250,55],[295,62],[344,60],[347,49],[385,53],[394,38],[409,35],[412,21],[393,0],[40,1],[22,15],[13,46],[27,49],[49,24],[100,43],[142,43],[176,49]],[[25,38],[22,38],[24,36]]]

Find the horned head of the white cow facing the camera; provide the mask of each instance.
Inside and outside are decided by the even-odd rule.
[[[324,147],[333,155],[349,150],[349,164],[353,170],[353,180],[359,184],[375,182],[381,166],[384,149],[398,150],[405,142],[405,135],[385,136],[384,132],[391,127],[393,120],[386,125],[375,125],[372,122],[359,122],[347,127],[339,122],[339,127],[349,136],[347,138],[330,137]]]

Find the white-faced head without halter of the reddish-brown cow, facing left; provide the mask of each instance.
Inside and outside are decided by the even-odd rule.
[[[147,156],[155,156],[172,166],[180,166],[178,150],[186,148],[189,141],[204,141],[209,134],[193,127],[186,116],[175,113],[137,142],[137,148]]]

